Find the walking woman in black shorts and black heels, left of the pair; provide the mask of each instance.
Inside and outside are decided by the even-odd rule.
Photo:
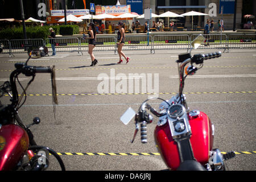
[[[93,55],[93,48],[96,46],[96,26],[94,23],[89,24],[89,46],[88,46],[88,53],[90,55],[90,59],[92,60],[91,67],[98,63],[98,60],[95,59]]]

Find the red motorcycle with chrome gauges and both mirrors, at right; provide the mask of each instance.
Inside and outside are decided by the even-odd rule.
[[[199,47],[200,42],[196,39],[193,46]],[[131,143],[134,142],[138,133],[139,124],[141,125],[141,142],[147,143],[147,124],[152,123],[153,117],[146,110],[150,110],[152,114],[159,117],[154,131],[155,143],[169,169],[181,171],[226,170],[225,160],[233,158],[235,153],[228,152],[222,155],[220,150],[213,149],[213,123],[202,111],[189,111],[185,94],[183,94],[185,78],[202,68],[204,60],[220,56],[221,52],[193,56],[190,53],[180,54],[179,60],[176,61],[179,68],[179,93],[167,101],[162,98],[150,98],[142,103],[138,113],[135,113],[130,107],[120,118],[127,125],[135,115],[136,129]],[[154,99],[163,101],[158,111],[147,104],[147,101]]]

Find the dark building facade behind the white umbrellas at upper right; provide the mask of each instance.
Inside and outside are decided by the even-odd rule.
[[[129,0],[119,0],[121,5],[126,5]],[[233,30],[234,14],[236,14],[236,29],[241,29],[243,20],[242,10],[245,11],[244,3],[250,2],[252,6],[252,14],[256,13],[256,1],[253,0],[140,0],[142,1],[143,13],[144,9],[152,9],[152,13],[162,14],[166,11],[171,11],[176,14],[183,14],[188,11],[199,11],[209,14],[207,16],[193,16],[193,24],[203,27],[207,19],[214,20],[214,30],[217,29],[218,20],[223,18],[225,30]],[[245,2],[243,2],[245,1]],[[137,2],[137,1],[133,1]],[[236,9],[234,8],[236,3]],[[135,6],[135,4],[134,4]],[[221,12],[221,7],[223,11]],[[133,10],[133,5],[131,5]],[[246,11],[245,11],[246,12]],[[222,13],[222,14],[221,14]],[[192,17],[185,16],[184,18],[175,18],[177,24],[183,27],[192,26]],[[168,18],[164,18],[164,23],[167,25]],[[143,21],[143,20],[142,20]]]

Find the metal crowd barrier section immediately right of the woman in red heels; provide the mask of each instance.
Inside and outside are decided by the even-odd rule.
[[[155,53],[151,35],[125,35],[125,45],[122,51],[133,50],[150,50],[150,53]],[[117,45],[116,45],[117,46]]]

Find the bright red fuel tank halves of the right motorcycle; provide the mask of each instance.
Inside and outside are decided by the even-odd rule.
[[[193,154],[198,162],[205,164],[209,160],[209,151],[213,147],[212,123],[207,114],[200,112],[196,117],[188,115],[191,126],[191,146]],[[177,144],[172,139],[169,123],[156,126],[155,143],[167,167],[176,170],[180,165],[180,157]]]

